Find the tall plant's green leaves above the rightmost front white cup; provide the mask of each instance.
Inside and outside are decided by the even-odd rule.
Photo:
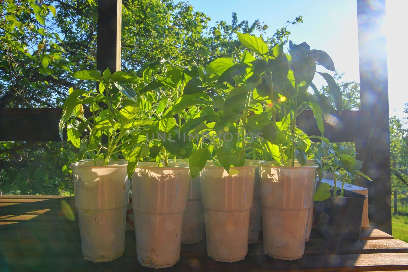
[[[282,44],[272,47],[262,39],[250,35],[238,34],[238,37],[246,50],[254,53],[251,56],[253,60],[249,60],[247,55],[242,59],[243,62],[251,64],[251,70],[247,71],[248,79],[242,84],[249,86],[252,82],[261,80],[249,97],[247,106],[259,103],[264,112],[253,111],[257,118],[245,117],[243,122],[244,126],[253,132],[265,134],[263,138],[266,141],[254,144],[253,147],[262,153],[262,159],[275,160],[284,166],[288,165],[287,159],[291,160],[291,166],[294,166],[295,159],[302,165],[305,164],[310,153],[310,138],[327,140],[322,137],[324,132],[322,97],[326,100],[328,98],[319,93],[312,83],[316,65],[320,64],[334,70],[333,61],[324,51],[310,50],[310,46],[305,42],[295,45],[289,41],[289,54],[285,54]],[[335,81],[328,73],[320,74],[328,81],[328,93],[334,97],[337,109],[341,111],[342,97],[339,87],[337,84],[333,85]],[[234,80],[235,83],[241,83],[237,82],[237,78]],[[314,89],[315,96],[307,92],[309,86]],[[308,136],[296,127],[297,116],[310,107],[313,109],[322,136]],[[280,121],[275,123],[277,119]],[[248,120],[256,120],[255,125],[246,124]],[[257,128],[254,129],[255,127]]]

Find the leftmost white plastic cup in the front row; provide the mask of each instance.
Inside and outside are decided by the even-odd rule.
[[[129,202],[127,161],[95,166],[93,160],[82,160],[70,166],[84,259],[97,263],[121,257]]]

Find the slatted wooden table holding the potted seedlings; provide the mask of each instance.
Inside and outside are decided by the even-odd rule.
[[[72,208],[71,214],[67,206]],[[303,258],[295,261],[266,256],[262,236],[258,243],[248,245],[245,260],[235,263],[210,259],[205,241],[182,245],[181,251],[180,261],[163,271],[408,270],[408,244],[380,230],[369,229],[362,230],[361,240],[356,242],[325,241],[312,232]],[[73,197],[1,195],[0,271],[153,270],[138,263],[131,230],[126,231],[122,257],[107,263],[85,261]]]

